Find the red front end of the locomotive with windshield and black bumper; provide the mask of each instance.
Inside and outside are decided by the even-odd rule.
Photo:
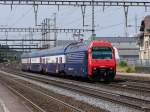
[[[88,48],[88,77],[105,81],[116,75],[115,51],[107,41],[92,41]]]

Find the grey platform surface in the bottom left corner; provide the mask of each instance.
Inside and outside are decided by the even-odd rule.
[[[21,99],[0,83],[0,112],[31,112]]]

